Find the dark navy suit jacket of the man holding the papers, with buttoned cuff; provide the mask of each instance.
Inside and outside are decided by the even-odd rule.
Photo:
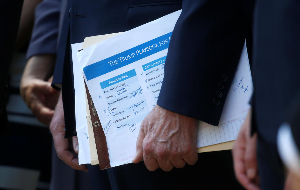
[[[181,8],[158,105],[217,125],[249,31],[252,9],[247,6],[253,5],[238,1],[69,1],[61,19],[54,78],[54,83],[64,86],[66,136],[76,135],[70,44],[87,36],[127,31]]]

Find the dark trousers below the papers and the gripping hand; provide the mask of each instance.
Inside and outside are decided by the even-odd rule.
[[[103,173],[93,165],[90,178],[101,179]],[[95,169],[97,168],[97,169]],[[235,180],[230,150],[198,153],[195,165],[173,168],[169,172],[149,171],[144,162],[107,169],[111,188],[121,189],[242,189]],[[102,181],[103,183],[103,181]],[[106,189],[107,183],[92,180],[92,189]]]

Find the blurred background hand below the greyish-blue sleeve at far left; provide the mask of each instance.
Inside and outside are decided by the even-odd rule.
[[[54,55],[37,55],[30,58],[20,84],[20,94],[28,107],[39,121],[48,126],[59,95],[59,92],[51,87],[52,78],[49,79],[54,61]]]

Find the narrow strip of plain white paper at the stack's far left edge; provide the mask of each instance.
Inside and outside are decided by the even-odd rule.
[[[71,45],[75,90],[75,122],[79,147],[78,161],[79,164],[88,164],[91,163],[91,156],[86,120],[85,85],[81,72],[83,66],[79,64],[76,55],[78,50],[81,49],[81,45],[82,43],[75,43]]]

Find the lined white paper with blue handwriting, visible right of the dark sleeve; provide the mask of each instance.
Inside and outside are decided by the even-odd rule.
[[[245,43],[232,85],[225,100],[219,125],[212,126],[199,121],[197,147],[235,140],[250,109],[249,100],[252,92],[253,83]]]

